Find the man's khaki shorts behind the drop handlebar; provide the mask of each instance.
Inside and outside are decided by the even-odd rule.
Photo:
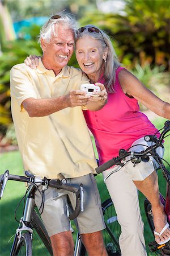
[[[67,179],[67,183],[74,185],[74,187],[79,187],[79,184],[82,183],[84,188],[84,212],[80,212],[75,221],[79,233],[94,233],[105,229],[100,195],[94,175],[88,174],[82,177]],[[41,189],[41,186],[39,189]],[[44,210],[41,214],[41,218],[49,237],[71,230],[68,218],[69,204],[67,197],[69,197],[70,203],[74,208],[74,193],[51,187],[48,187],[45,191]],[[40,208],[41,201],[42,197],[39,191],[36,191],[35,203],[37,208]]]

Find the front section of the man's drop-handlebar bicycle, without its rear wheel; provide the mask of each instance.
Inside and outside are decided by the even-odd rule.
[[[40,179],[39,177],[35,177],[32,174],[29,174],[28,171],[25,171],[25,175],[27,176],[18,176],[18,175],[10,175],[7,170],[5,174],[0,176],[0,186],[1,193],[0,198],[3,196],[3,191],[5,189],[7,180],[15,180],[22,181],[28,183],[28,189],[25,193],[24,211],[23,217],[20,218],[18,229],[16,229],[16,234],[14,238],[14,242],[12,244],[10,256],[15,255],[32,255],[32,238],[33,238],[33,229],[36,230],[40,239],[44,243],[46,249],[49,251],[50,255],[53,255],[52,246],[50,243],[50,239],[44,227],[44,224],[41,221],[41,218],[35,208],[35,192],[39,190],[38,186],[42,185],[42,204],[41,207],[43,209],[43,193],[49,187],[65,189],[67,191],[71,191],[76,195],[76,207],[69,215],[69,219],[73,220],[76,218],[80,212],[83,212],[83,185],[80,184],[79,188],[73,187],[69,184],[66,184],[66,180],[62,176],[62,174],[58,175],[57,180],[48,180],[48,179]],[[39,209],[40,210],[40,209]]]

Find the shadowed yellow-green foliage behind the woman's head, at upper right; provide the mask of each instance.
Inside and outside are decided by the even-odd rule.
[[[126,1],[125,14],[92,11],[79,20],[80,26],[95,24],[118,44],[120,61],[133,68],[136,63],[165,65],[168,69],[169,1]]]

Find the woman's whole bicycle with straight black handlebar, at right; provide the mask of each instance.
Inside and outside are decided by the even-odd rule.
[[[160,156],[156,153],[156,148],[158,148],[160,146],[163,147],[162,142],[163,142],[164,138],[168,136],[166,134],[169,131],[170,131],[170,121],[166,121],[164,123],[163,131],[160,134],[159,139],[156,138],[155,135],[145,136],[146,141],[152,142],[151,146],[147,147],[146,150],[143,150],[141,152],[135,152],[133,150],[129,151],[131,147],[128,149],[128,151],[121,149],[119,151],[119,155],[116,158],[113,158],[113,159],[109,160],[108,162],[101,164],[101,166],[96,168],[96,172],[97,172],[97,174],[100,174],[101,172],[107,170],[108,168],[110,168],[114,165],[117,165],[118,167],[116,168],[116,170],[112,171],[108,176],[105,177],[104,180],[106,180],[114,172],[119,171],[123,166],[125,166],[125,164],[127,162],[131,161],[134,164],[137,164],[141,161],[148,162],[148,160],[150,159],[150,156],[152,156],[156,160],[156,162],[159,164],[159,169],[162,170],[163,177],[165,178],[165,181],[167,183],[166,196],[163,197],[163,195],[160,193],[160,200],[162,201],[162,203],[164,205],[165,213],[167,214],[167,221],[170,224],[170,172],[164,166],[164,163],[163,163],[164,159],[160,158]],[[135,146],[137,146],[137,145],[135,145]],[[130,156],[130,159],[127,160],[126,158],[128,156]],[[165,162],[168,163],[167,161],[165,161]],[[168,164],[168,166],[170,167],[169,164]],[[151,228],[151,232],[152,232],[152,234],[154,234],[154,222],[153,222],[153,217],[152,217],[151,204],[146,199],[144,202],[144,205],[145,205],[145,212],[146,212],[147,220],[148,220],[148,223]],[[154,253],[159,252],[160,255],[170,255],[170,241],[168,241],[167,243],[164,243],[163,245],[158,245],[158,243],[153,241],[153,242],[150,242],[148,244],[148,246],[150,247],[150,250]]]

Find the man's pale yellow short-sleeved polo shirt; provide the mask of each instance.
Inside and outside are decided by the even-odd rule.
[[[11,111],[24,170],[48,179],[62,172],[66,177],[95,173],[96,159],[80,106],[45,117],[29,117],[26,98],[55,98],[88,82],[78,69],[66,66],[55,76],[40,61],[37,69],[25,64],[12,67]]]

